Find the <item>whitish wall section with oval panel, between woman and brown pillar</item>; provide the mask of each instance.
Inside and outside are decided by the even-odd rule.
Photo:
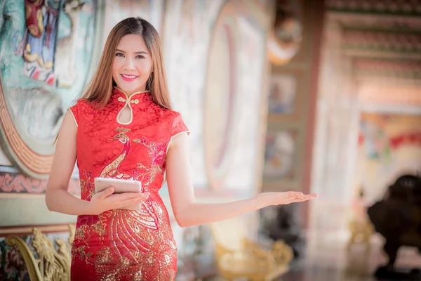
[[[168,83],[175,110],[192,131],[192,175],[199,190],[253,192],[265,61],[265,27],[253,14],[256,7],[254,1],[241,6],[219,0],[167,6]]]

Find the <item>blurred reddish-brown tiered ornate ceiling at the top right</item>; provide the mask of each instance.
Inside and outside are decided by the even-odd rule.
[[[366,103],[421,106],[421,0],[327,0]]]

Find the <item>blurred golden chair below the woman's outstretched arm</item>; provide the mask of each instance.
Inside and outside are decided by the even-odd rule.
[[[241,218],[211,223],[210,230],[217,267],[226,280],[246,277],[269,281],[288,272],[293,250],[282,241],[274,242],[272,249],[267,250],[248,240]]]

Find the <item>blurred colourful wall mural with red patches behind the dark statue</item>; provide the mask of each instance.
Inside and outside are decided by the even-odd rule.
[[[401,174],[420,171],[420,122],[420,115],[361,114],[355,183],[368,200],[379,199]]]

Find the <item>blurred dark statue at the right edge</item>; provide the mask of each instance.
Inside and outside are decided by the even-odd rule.
[[[382,200],[367,210],[375,231],[385,237],[384,249],[389,256],[386,266],[377,269],[377,277],[394,280],[421,280],[419,269],[395,268],[401,246],[416,247],[421,252],[421,177],[406,174],[396,179]]]

